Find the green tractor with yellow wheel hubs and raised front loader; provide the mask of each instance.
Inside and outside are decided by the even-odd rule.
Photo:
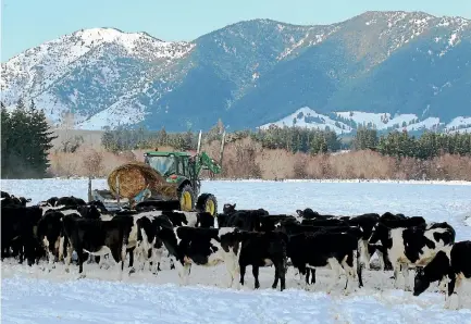
[[[225,133],[221,140],[220,162],[210,158],[206,152],[200,151],[201,132],[198,138],[198,148],[196,154],[178,151],[147,151],[144,154],[144,162],[152,167],[157,173],[163,176],[166,183],[175,184],[177,187],[177,196],[182,211],[206,211],[215,216],[218,212],[218,200],[212,194],[200,194],[201,179],[200,173],[203,170],[210,171],[212,174],[221,173],[222,157],[224,150]],[[107,205],[107,200],[115,201],[110,194],[110,190],[91,190],[89,183],[89,199],[100,200]],[[145,200],[169,200],[160,192],[153,192],[149,189],[144,189],[139,195],[133,198],[134,203]],[[107,208],[114,209],[108,203]],[[120,198],[117,198],[120,205]]]

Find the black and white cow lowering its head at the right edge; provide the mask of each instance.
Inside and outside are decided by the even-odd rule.
[[[418,267],[413,296],[425,291],[433,282],[445,281],[448,286],[445,308],[450,308],[453,295],[457,295],[457,309],[461,308],[462,281],[471,281],[471,241],[463,240],[441,249],[424,267]]]

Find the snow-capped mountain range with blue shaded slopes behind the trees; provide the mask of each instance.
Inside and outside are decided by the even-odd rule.
[[[365,12],[325,26],[253,20],[190,42],[83,29],[1,65],[1,100],[34,100],[76,127],[231,129],[272,123],[348,133],[470,126],[471,24]],[[385,122],[386,121],[386,122]]]

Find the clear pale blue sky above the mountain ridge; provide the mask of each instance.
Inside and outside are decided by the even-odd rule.
[[[115,27],[163,40],[193,40],[243,20],[330,24],[370,10],[471,18],[471,0],[2,0],[1,61],[80,28]]]

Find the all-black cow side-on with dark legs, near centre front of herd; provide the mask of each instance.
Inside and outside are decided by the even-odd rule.
[[[286,261],[287,261],[287,236],[278,232],[239,232],[227,233],[221,237],[221,246],[225,252],[230,249],[240,249],[238,264],[240,266],[240,284],[244,285],[244,276],[247,265],[252,266],[255,288],[260,287],[259,267],[274,265],[275,279],[272,288],[276,289],[278,279],[280,290],[285,289]]]

